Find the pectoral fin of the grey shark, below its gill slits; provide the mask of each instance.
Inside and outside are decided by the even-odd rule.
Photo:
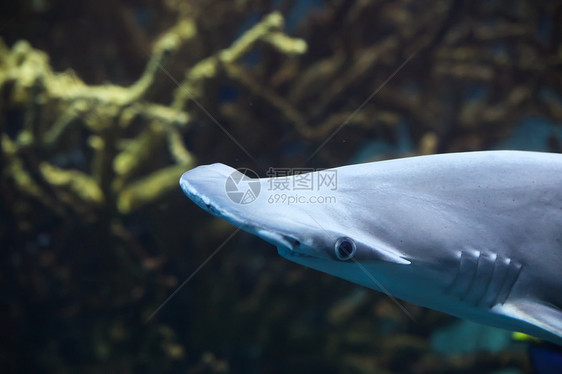
[[[562,345],[562,310],[556,306],[519,299],[498,304],[493,310],[536,328],[534,332],[521,332]]]

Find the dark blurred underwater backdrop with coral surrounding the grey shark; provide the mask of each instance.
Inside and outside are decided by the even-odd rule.
[[[225,243],[178,180],[561,152],[561,1],[6,1],[0,130],[3,373],[536,366],[511,332]]]

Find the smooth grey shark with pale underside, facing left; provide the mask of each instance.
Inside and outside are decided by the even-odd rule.
[[[337,186],[298,191],[293,204],[279,197],[294,190],[272,186],[295,176],[252,179],[257,198],[231,200],[225,183],[242,175],[223,164],[186,172],[180,186],[291,261],[562,345],[561,154],[451,153],[308,177],[317,183],[325,172]]]

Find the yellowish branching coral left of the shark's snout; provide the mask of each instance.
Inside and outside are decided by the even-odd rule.
[[[196,117],[190,114],[187,103],[198,103],[204,96],[205,81],[216,80],[223,70],[239,71],[238,60],[260,41],[281,54],[305,52],[306,43],[283,34],[282,27],[281,14],[271,13],[229,48],[186,69],[168,106],[150,102],[147,96],[156,95],[157,80],[168,79],[163,76],[170,75],[166,64],[170,56],[196,37],[195,26],[187,20],[178,22],[154,44],[145,72],[129,87],[88,86],[71,70],[54,73],[48,56],[27,42],[16,43],[11,51],[2,43],[4,74],[0,76],[0,87],[8,98],[4,105],[25,108],[23,128],[14,134],[14,139],[8,135],[10,129],[2,137],[8,168],[17,168],[25,154],[48,154],[72,145],[65,143],[86,131],[86,144],[92,149],[90,163],[84,165],[88,172],[57,168],[42,160],[39,174],[49,185],[46,188],[64,189],[76,205],[114,200],[123,214],[157,200],[177,187],[181,173],[195,165],[182,133]],[[156,166],[153,173],[131,181],[155,153],[168,153],[173,163],[152,165]],[[22,191],[47,203],[44,188],[26,170],[19,168],[10,174],[18,175],[16,181]]]

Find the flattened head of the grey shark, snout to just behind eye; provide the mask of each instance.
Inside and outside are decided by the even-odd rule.
[[[311,180],[318,180],[317,173],[310,173]],[[297,194],[274,188],[292,184],[294,178],[250,178],[213,164],[184,173],[180,186],[202,209],[273,244],[281,256],[301,265],[378,289],[366,268],[410,263],[390,242],[362,229],[367,219],[350,210],[344,180],[327,191]]]

